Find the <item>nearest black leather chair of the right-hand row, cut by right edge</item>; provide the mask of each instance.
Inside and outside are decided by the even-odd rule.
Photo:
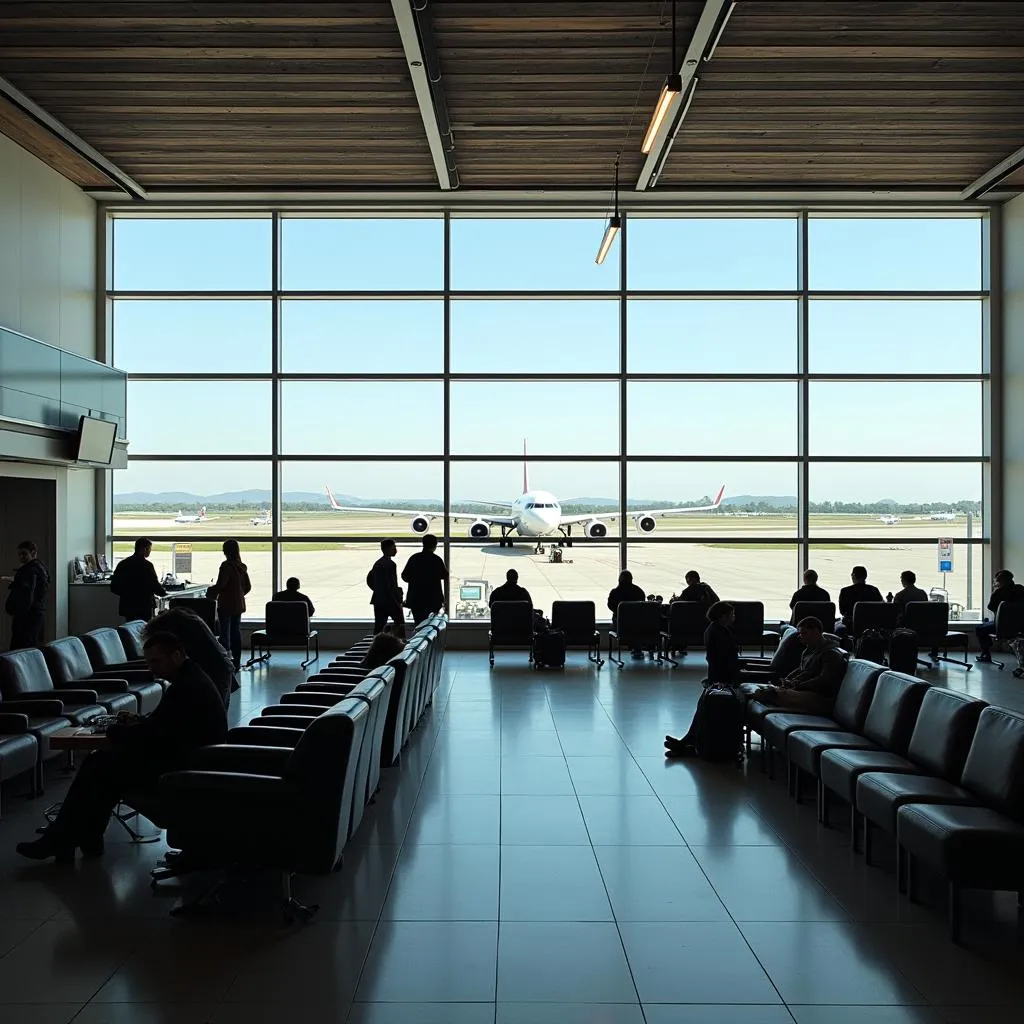
[[[896,815],[907,895],[914,898],[919,861],[945,879],[953,942],[959,941],[963,890],[1024,891],[1024,714],[981,713],[961,784],[979,806],[908,803]]]

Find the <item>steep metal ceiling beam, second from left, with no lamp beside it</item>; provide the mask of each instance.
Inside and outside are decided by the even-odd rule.
[[[391,8],[406,51],[406,62],[413,79],[420,117],[423,118],[437,183],[443,191],[451,191],[459,187],[459,170],[455,162],[455,139],[441,84],[440,62],[427,13],[428,2],[391,0]]]

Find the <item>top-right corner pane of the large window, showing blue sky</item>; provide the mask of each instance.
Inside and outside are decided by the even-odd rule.
[[[822,291],[977,291],[980,217],[811,217],[809,278]]]

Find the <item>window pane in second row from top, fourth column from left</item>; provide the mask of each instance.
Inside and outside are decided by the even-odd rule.
[[[627,309],[630,373],[797,370],[795,301],[633,299]]]

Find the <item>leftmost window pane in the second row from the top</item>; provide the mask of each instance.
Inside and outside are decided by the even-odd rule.
[[[119,299],[114,364],[129,374],[268,374],[270,313],[259,301]]]

